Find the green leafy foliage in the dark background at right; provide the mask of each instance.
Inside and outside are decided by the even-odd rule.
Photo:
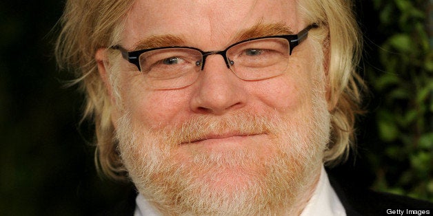
[[[381,144],[367,154],[374,188],[433,201],[433,4],[375,0],[373,6],[384,36],[374,48],[379,65],[365,67],[380,98],[374,118]]]

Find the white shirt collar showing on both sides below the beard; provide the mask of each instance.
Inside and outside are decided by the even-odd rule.
[[[143,195],[139,194],[135,199],[136,207],[134,216],[157,216],[159,215],[148,201],[146,201]],[[308,201],[307,206],[303,209],[301,216],[312,216],[312,215],[323,215],[323,216],[345,216],[345,210],[339,197],[336,195],[328,179],[328,174],[325,168],[322,166],[321,175],[319,182],[317,183],[316,189]]]

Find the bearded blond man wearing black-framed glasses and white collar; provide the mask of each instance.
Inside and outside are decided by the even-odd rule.
[[[68,1],[57,56],[78,68],[98,165],[134,182],[136,215],[354,215],[365,204],[352,206],[323,168],[347,157],[359,113],[350,11],[350,1]]]

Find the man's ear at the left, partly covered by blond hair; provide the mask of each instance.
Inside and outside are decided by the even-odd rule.
[[[110,105],[108,105],[110,107],[110,118],[114,129],[116,129],[117,120],[119,119],[119,109],[117,107],[116,98],[113,96],[112,84],[110,83],[110,71],[107,68],[110,62],[108,61],[107,50],[105,48],[99,48],[96,54],[94,54],[94,58],[97,61],[99,76],[103,81],[103,85],[109,97],[106,98],[105,105],[108,105],[108,100],[110,100]]]

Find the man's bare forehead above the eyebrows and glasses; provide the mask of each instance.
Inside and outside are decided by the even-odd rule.
[[[137,0],[125,19],[122,44],[133,47],[150,36],[179,36],[188,45],[218,49],[256,23],[303,28],[294,0]]]

